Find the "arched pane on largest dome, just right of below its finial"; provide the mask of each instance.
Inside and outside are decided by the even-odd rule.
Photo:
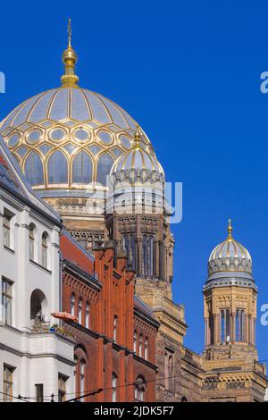
[[[85,151],[80,152],[73,159],[72,182],[79,184],[92,182],[92,160]]]

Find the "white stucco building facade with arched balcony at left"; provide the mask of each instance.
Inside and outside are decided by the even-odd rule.
[[[25,190],[26,191],[26,190]],[[33,201],[37,198],[33,197]],[[0,399],[6,394],[6,369],[12,372],[9,391],[13,397],[37,398],[43,385],[44,399],[58,399],[59,375],[67,394],[74,390],[74,342],[63,332],[51,330],[51,315],[61,309],[59,254],[60,222],[46,206],[30,206],[0,184]],[[8,214],[9,246],[4,239],[4,217]],[[34,232],[32,250],[29,231]],[[46,237],[46,247],[42,237]],[[46,253],[42,254],[42,253]],[[46,256],[46,258],[44,257]],[[44,263],[46,259],[46,264]],[[46,267],[44,266],[46,265]],[[5,285],[8,284],[8,298]],[[8,301],[8,303],[7,303]],[[72,395],[71,395],[72,396]],[[70,397],[71,398],[71,397]]]

